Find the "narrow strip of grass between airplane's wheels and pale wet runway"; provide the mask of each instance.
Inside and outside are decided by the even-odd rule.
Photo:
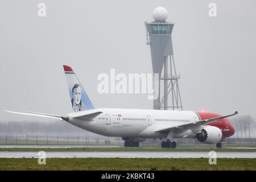
[[[256,152],[256,149],[233,149],[233,148],[0,148],[0,151],[81,151],[81,152]]]

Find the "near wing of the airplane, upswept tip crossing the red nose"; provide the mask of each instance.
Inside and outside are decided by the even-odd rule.
[[[188,124],[184,124],[184,125],[176,125],[176,126],[171,126],[171,127],[165,127],[165,128],[162,128],[162,129],[157,129],[155,131],[167,132],[167,131],[176,131],[176,130],[189,129],[191,127],[200,126],[200,125],[206,125],[208,123],[212,123],[212,122],[218,121],[220,119],[228,118],[228,117],[230,117],[232,115],[236,115],[236,114],[238,114],[238,111],[234,112],[233,114],[223,115],[221,117],[204,119],[204,120],[201,120],[201,121],[197,121],[197,122],[193,122],[193,123],[188,123]]]

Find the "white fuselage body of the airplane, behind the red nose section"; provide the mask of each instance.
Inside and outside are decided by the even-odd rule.
[[[101,111],[92,121],[76,119],[76,115]],[[200,120],[193,111],[144,110],[144,109],[94,109],[68,114],[69,123],[84,130],[108,137],[166,138],[168,132],[155,131]],[[181,130],[174,138],[192,138],[191,130]]]

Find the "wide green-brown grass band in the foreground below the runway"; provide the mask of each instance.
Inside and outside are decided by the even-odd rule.
[[[123,159],[73,158],[38,159],[0,158],[0,170],[256,170],[256,159],[217,159],[210,165],[208,159]]]

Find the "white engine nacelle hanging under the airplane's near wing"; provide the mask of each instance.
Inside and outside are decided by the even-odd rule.
[[[222,139],[222,131],[218,127],[208,126],[202,129],[201,133],[197,133],[196,138],[202,143],[218,143]]]

